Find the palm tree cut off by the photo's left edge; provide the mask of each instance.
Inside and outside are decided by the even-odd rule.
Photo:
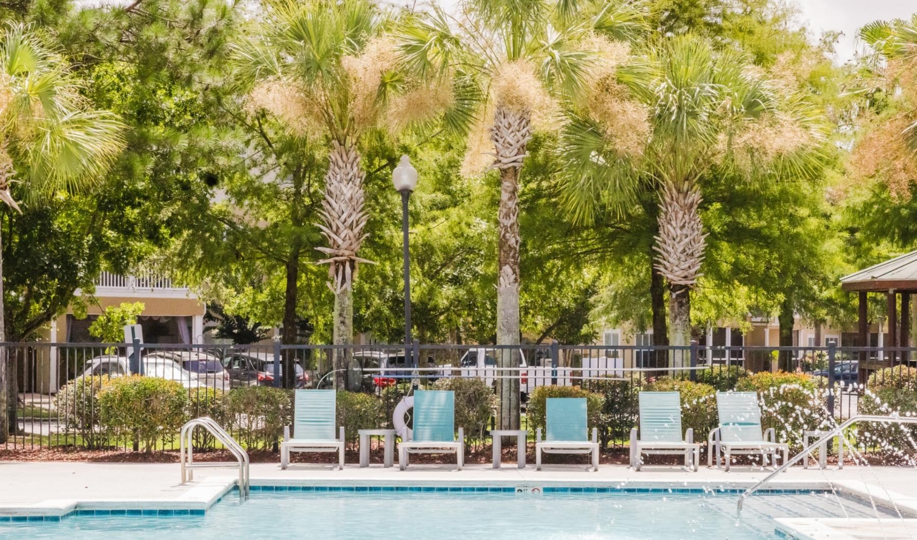
[[[27,204],[40,204],[55,193],[83,190],[123,148],[117,116],[89,108],[79,90],[66,61],[31,28],[7,26],[0,37],[0,200],[6,206],[20,212],[14,191]],[[2,255],[0,246],[0,276]],[[5,336],[0,279],[0,343]],[[0,348],[0,443],[16,429],[17,390],[8,369]]]

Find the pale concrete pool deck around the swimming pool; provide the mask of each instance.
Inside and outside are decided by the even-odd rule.
[[[730,472],[701,468],[602,466],[596,472],[578,466],[546,466],[541,471],[504,465],[470,465],[457,471],[441,465],[343,470],[328,466],[251,465],[253,486],[488,486],[745,489],[769,474],[760,468],[734,467]],[[226,495],[238,479],[234,468],[204,468],[180,483],[178,464],[80,462],[0,462],[0,516],[60,516],[74,510],[155,509],[204,512]],[[790,468],[768,484],[770,489],[808,490],[834,487],[878,504],[896,506],[905,517],[917,517],[917,468]],[[874,538],[917,536],[917,520],[778,520],[781,531],[798,538]],[[884,533],[882,533],[885,531]],[[875,534],[879,534],[876,536]],[[884,534],[884,535],[883,535]]]

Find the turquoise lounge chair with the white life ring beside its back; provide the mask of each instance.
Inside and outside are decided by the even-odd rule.
[[[454,392],[414,391],[414,429],[405,430],[398,443],[398,468],[407,467],[409,454],[455,454],[461,470],[465,465],[465,430],[458,428],[457,439],[455,417]]]

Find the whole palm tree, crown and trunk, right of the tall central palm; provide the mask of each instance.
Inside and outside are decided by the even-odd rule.
[[[740,53],[692,36],[651,44],[595,92],[568,104],[567,204],[589,220],[596,202],[626,214],[643,190],[657,193],[669,343],[687,346],[706,247],[699,182],[725,168],[771,182],[811,172],[823,162],[819,111]]]

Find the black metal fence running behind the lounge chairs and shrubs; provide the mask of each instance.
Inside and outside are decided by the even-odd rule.
[[[666,384],[677,381],[709,385],[702,389],[707,392],[710,387],[715,391],[763,391],[761,384],[774,382],[762,376],[746,376],[779,371],[804,373],[808,375],[805,384],[813,391],[812,399],[819,400],[817,404],[823,408],[822,416],[834,420],[856,414],[864,400],[874,406],[876,397],[865,390],[869,380],[877,388],[917,387],[917,369],[913,369],[917,366],[917,348],[910,347],[703,347],[696,343],[690,347],[558,343],[481,346],[416,342],[408,347],[286,346],[276,342],[232,346],[135,342],[11,343],[0,344],[0,352],[6,355],[9,394],[16,397],[7,403],[10,435],[0,445],[4,449],[172,449],[178,446],[174,424],[181,425],[188,418],[204,414],[219,417],[246,446],[270,449],[276,446],[278,430],[289,423],[291,397],[289,392],[258,390],[263,388],[337,388],[374,396],[379,404],[373,406],[375,420],[369,422],[378,427],[391,427],[393,409],[403,395],[414,387],[435,385],[439,380],[476,379],[492,387],[509,381],[509,399],[518,399],[524,413],[539,387],[592,391],[604,396],[599,414],[602,442],[606,448],[613,448],[626,444],[626,433],[637,422],[637,392],[668,388]],[[284,368],[293,375],[284,377]],[[113,388],[113,381],[130,374],[172,380],[172,389],[180,385],[186,396],[181,403],[169,404],[169,410],[161,402],[142,402],[142,396],[132,398],[129,394],[110,393],[100,401],[100,396]],[[785,384],[782,379],[777,382]],[[368,422],[366,418],[360,421]],[[158,431],[147,430],[146,424]],[[197,443],[215,444],[205,437]]]

